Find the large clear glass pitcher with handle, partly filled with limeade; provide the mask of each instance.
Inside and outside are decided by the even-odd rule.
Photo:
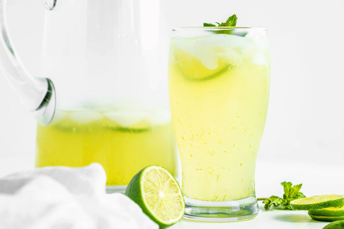
[[[0,64],[37,119],[36,167],[99,162],[108,192],[124,191],[150,164],[176,174],[162,3],[44,1],[46,78],[36,78],[15,55],[0,0]]]

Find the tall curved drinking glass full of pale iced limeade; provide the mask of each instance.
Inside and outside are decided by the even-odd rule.
[[[237,221],[258,214],[255,166],[269,88],[266,28],[173,29],[169,97],[185,218]]]

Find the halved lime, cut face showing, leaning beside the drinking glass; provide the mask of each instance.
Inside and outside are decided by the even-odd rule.
[[[184,215],[185,203],[179,184],[166,169],[150,165],[129,182],[125,194],[161,228],[178,222]]]

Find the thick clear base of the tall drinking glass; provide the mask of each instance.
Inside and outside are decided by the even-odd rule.
[[[231,222],[253,219],[259,207],[256,195],[235,201],[200,201],[184,195],[183,218],[207,222]]]

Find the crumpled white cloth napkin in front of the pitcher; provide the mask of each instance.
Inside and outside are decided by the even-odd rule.
[[[98,163],[0,178],[0,229],[158,229],[126,195],[106,194]]]

